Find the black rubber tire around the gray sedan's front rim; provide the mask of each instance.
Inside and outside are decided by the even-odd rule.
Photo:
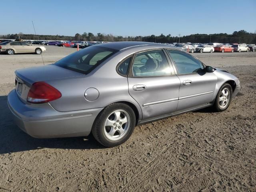
[[[220,96],[223,94],[222,90],[228,90],[229,94],[230,94],[230,98],[229,98],[228,102],[226,103],[226,105],[224,107],[220,106]],[[230,105],[230,103],[231,103],[232,93],[233,93],[232,92],[232,87],[230,86],[230,84],[224,83],[220,87],[220,90],[218,91],[218,94],[217,94],[217,96],[215,98],[214,105],[213,105],[214,110],[216,110],[217,112],[225,111],[228,108],[228,106]]]

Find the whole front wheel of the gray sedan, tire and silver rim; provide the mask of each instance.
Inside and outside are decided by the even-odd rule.
[[[218,112],[222,112],[228,108],[232,98],[232,87],[228,83],[224,83],[214,102],[214,109]]]

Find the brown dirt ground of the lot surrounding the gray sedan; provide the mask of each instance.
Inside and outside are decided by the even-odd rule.
[[[45,63],[76,49],[47,47]],[[182,114],[135,128],[122,146],[92,136],[36,139],[12,122],[14,70],[38,55],[0,54],[0,191],[256,191],[256,53],[194,54],[241,82],[228,110]]]

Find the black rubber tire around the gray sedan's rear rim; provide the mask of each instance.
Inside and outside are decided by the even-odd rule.
[[[124,136],[122,136],[122,138],[120,138],[119,140],[110,140],[104,133],[104,130],[105,130],[104,124],[105,124],[105,121],[107,120],[108,116],[116,110],[123,110],[129,115],[130,126],[127,129],[127,132],[124,134]],[[113,104],[106,106],[98,114],[98,116],[95,119],[94,124],[92,126],[92,135],[103,146],[106,146],[106,147],[118,146],[120,144],[123,144],[124,142],[126,142],[126,140],[128,140],[130,138],[130,136],[132,135],[132,132],[134,130],[134,127],[135,127],[135,121],[136,121],[136,117],[135,117],[134,111],[132,110],[132,108],[130,106],[123,104],[123,103],[113,103]]]

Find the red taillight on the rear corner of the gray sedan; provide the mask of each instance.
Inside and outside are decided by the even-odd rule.
[[[36,82],[32,84],[27,101],[30,103],[46,103],[61,97],[61,93],[46,82]]]

